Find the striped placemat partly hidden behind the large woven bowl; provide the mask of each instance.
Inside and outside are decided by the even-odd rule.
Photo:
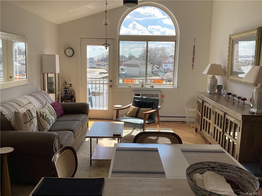
[[[236,165],[222,149],[188,149],[180,148],[189,165],[203,161],[215,161]]]

